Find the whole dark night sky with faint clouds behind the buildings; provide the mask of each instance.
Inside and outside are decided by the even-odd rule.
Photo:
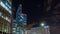
[[[59,0],[49,0],[49,2],[46,0],[45,5],[43,0],[14,0],[13,6],[16,10],[20,3],[23,5],[23,13],[27,14],[27,29],[39,26],[39,21],[46,20],[47,24],[51,26],[51,34],[60,34]]]

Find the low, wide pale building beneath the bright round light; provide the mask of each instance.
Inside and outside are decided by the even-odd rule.
[[[31,30],[27,30],[27,34],[50,34],[49,27],[35,27],[31,28]]]

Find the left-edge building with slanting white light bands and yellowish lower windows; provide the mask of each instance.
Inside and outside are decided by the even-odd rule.
[[[0,0],[0,34],[11,34],[11,5],[7,0]]]

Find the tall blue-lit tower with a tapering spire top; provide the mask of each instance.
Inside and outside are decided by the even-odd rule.
[[[27,16],[26,14],[22,13],[22,5],[19,5],[17,12],[16,12],[16,19],[13,20],[12,23],[12,34],[24,34]]]

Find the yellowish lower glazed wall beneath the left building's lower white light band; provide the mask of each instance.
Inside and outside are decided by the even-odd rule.
[[[0,32],[9,34],[10,28],[11,28],[10,23],[8,23],[7,21],[3,21],[3,20],[0,21]]]

